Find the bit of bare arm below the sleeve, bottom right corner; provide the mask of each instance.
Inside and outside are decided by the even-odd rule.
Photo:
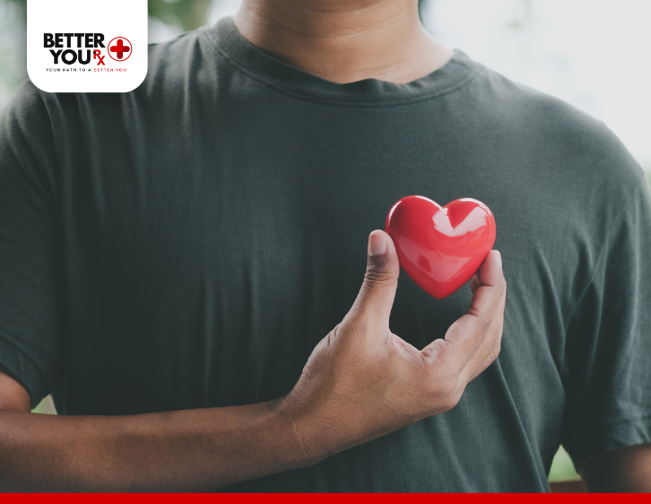
[[[607,451],[579,467],[587,491],[651,492],[651,443]]]

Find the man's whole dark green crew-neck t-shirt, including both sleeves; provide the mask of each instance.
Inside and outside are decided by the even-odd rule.
[[[447,413],[230,490],[548,491],[561,441],[575,462],[651,441],[651,201],[612,132],[459,50],[337,84],[230,18],[152,46],[135,91],[24,83],[4,110],[0,363],[65,414],[285,395],[408,195],[494,213],[499,359]],[[402,275],[391,328],[421,348],[470,298]]]

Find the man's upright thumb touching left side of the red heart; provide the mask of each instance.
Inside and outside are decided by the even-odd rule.
[[[373,231],[369,235],[364,282],[351,310],[355,316],[364,317],[376,327],[388,326],[399,274],[394,241],[385,231]]]

